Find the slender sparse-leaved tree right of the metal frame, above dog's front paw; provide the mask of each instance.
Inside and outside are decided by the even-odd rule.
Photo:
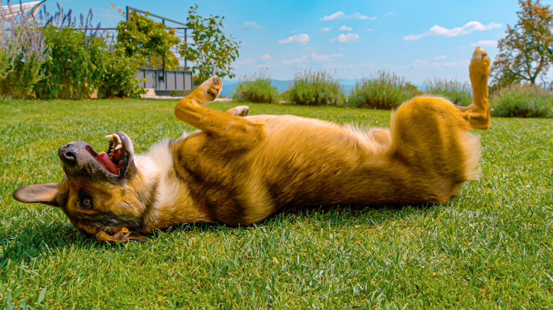
[[[223,33],[224,17],[210,16],[203,18],[198,15],[198,5],[191,6],[189,22],[192,28],[193,42],[181,45],[180,54],[186,60],[194,63],[191,71],[205,81],[210,76],[229,76],[233,78],[233,67],[230,64],[238,58],[240,42],[235,42],[233,36]]]

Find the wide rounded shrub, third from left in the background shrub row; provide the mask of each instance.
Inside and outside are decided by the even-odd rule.
[[[417,95],[417,88],[402,77],[389,71],[377,71],[374,76],[355,83],[348,102],[359,108],[391,109]]]

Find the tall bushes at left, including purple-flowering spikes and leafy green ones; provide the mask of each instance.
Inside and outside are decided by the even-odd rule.
[[[138,97],[138,57],[106,42],[92,13],[80,24],[58,6],[42,21],[28,16],[0,16],[0,96],[11,98]],[[45,8],[44,8],[45,10]],[[110,42],[113,42],[111,38]]]

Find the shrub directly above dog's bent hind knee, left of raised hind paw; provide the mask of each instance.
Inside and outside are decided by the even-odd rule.
[[[466,107],[472,102],[472,88],[469,82],[461,83],[457,80],[446,81],[435,78],[434,81],[424,82],[425,93],[432,96],[442,96],[456,105]]]

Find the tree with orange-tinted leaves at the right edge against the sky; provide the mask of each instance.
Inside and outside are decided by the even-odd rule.
[[[498,86],[527,82],[532,85],[553,64],[553,11],[540,0],[519,0],[518,22],[507,25],[499,40],[499,54],[493,62],[492,79]]]

